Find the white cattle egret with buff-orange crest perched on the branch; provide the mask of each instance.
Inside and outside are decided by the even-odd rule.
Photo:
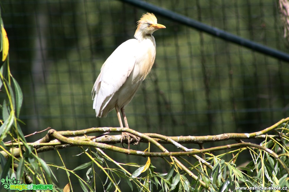
[[[124,107],[132,100],[152,69],[156,53],[155,38],[152,34],[161,28],[165,26],[157,24],[154,14],[143,14],[137,21],[135,39],[122,43],[106,59],[92,89],[96,117],[106,117],[115,108],[120,127],[123,127],[123,124],[119,110],[125,127],[129,127]],[[122,138],[125,135],[128,136],[129,142],[129,134],[122,133]]]

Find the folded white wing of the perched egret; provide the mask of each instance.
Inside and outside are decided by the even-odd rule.
[[[138,44],[139,41],[136,39],[125,41],[116,48],[101,67],[92,89],[93,108],[96,116],[101,116],[102,110],[133,70]]]

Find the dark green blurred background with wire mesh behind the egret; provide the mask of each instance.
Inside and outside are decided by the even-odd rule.
[[[288,52],[275,0],[147,2]],[[12,74],[24,95],[20,115],[26,123],[21,126],[24,134],[47,127],[63,131],[119,126],[115,111],[96,118],[91,90],[106,58],[133,38],[136,21],[147,10],[118,0],[1,0],[0,4]],[[126,107],[130,128],[166,136],[246,133],[288,116],[287,62],[156,16],[167,28],[154,33],[155,65]],[[78,148],[61,150],[71,163],[68,168],[88,161],[71,157],[78,153]],[[54,152],[40,156],[59,162]],[[146,161],[139,160],[139,164]]]

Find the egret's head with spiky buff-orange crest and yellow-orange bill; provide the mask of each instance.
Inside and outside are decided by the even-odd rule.
[[[165,28],[165,26],[157,23],[157,18],[154,14],[142,14],[142,17],[137,21],[137,30],[134,33],[134,37],[137,40],[142,40],[145,36],[152,35],[154,31],[161,28]]]

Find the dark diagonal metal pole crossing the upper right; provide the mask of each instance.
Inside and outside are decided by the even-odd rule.
[[[149,4],[149,3],[141,1],[141,0],[119,0],[119,1],[123,1],[123,2],[131,4],[133,6],[137,6],[141,9],[145,9],[147,11],[151,11],[154,14],[161,15],[161,16],[163,16],[167,19],[170,19],[172,21],[176,21],[178,23],[181,23],[181,24],[189,26],[189,27],[193,27],[199,31],[204,31],[208,34],[219,37],[219,38],[224,39],[226,41],[230,41],[232,43],[247,47],[249,49],[252,49],[253,51],[257,51],[257,52],[260,52],[262,54],[266,54],[266,55],[275,57],[277,59],[281,59],[283,61],[289,62],[289,54],[287,54],[287,53],[284,53],[284,52],[279,51],[277,49],[273,49],[273,48],[270,48],[268,46],[256,43],[254,41],[250,41],[248,39],[244,39],[242,37],[228,33],[226,31],[223,31],[223,30],[218,29],[216,27],[212,27],[212,26],[203,24],[199,21],[196,21],[196,20],[191,19],[189,17],[177,14],[173,11],[163,9],[161,7]]]

